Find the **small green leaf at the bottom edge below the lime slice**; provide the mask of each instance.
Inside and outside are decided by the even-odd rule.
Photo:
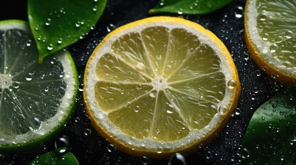
[[[47,152],[35,158],[29,165],[79,165],[71,152],[60,154],[55,151]]]

